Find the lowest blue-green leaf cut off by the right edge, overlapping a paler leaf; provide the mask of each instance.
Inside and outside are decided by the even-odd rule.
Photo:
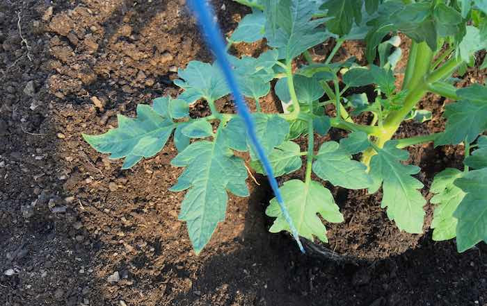
[[[487,168],[470,171],[454,184],[467,194],[453,214],[458,219],[456,248],[463,252],[487,242]]]

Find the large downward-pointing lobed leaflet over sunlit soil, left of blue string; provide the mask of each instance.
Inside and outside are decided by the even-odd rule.
[[[195,253],[208,243],[218,222],[225,219],[227,190],[237,196],[248,196],[244,160],[232,155],[221,132],[214,142],[194,142],[171,162],[186,167],[171,191],[186,192],[179,219],[186,221]]]

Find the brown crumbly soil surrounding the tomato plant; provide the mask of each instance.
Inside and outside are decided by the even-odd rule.
[[[213,3],[227,33],[249,12]],[[184,0],[3,0],[0,50],[0,305],[487,305],[486,246],[458,254],[454,241],[433,242],[429,231],[413,240],[394,232],[379,194],[340,196],[346,223],[330,228],[335,250],[358,245],[351,254],[373,261],[302,255],[287,235],[267,232],[264,180],[248,180],[250,198],[230,196],[225,222],[194,255],[177,221],[183,194],[167,191],[181,172],[168,163],[173,145],[121,171],[80,136],[116,126],[116,114],[134,115],[137,103],[177,94],[176,67],[210,59]],[[357,44],[343,50],[337,56],[363,56]],[[469,69],[466,82],[484,75]],[[422,107],[433,120],[398,136],[441,130],[444,103],[428,96]],[[271,95],[262,104],[277,110]],[[444,167],[461,167],[463,151],[410,153],[429,185]],[[373,242],[380,237],[388,243]]]

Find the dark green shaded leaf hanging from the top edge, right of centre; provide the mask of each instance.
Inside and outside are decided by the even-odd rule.
[[[328,10],[328,16],[334,17],[326,23],[328,29],[337,35],[343,36],[351,31],[353,22],[362,22],[362,0],[328,0],[321,9]],[[372,5],[371,5],[372,4]],[[370,3],[369,9],[375,8]]]

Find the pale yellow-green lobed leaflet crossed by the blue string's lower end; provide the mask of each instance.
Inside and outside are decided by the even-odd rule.
[[[280,187],[280,191],[294,226],[301,237],[313,240],[313,236],[316,236],[321,241],[328,242],[326,228],[318,214],[332,223],[340,223],[344,220],[330,191],[319,182],[311,180],[306,184],[301,180],[288,180]],[[276,198],[271,200],[266,214],[276,217],[269,229],[270,232],[280,232],[281,230],[290,232],[289,223],[282,216]]]

